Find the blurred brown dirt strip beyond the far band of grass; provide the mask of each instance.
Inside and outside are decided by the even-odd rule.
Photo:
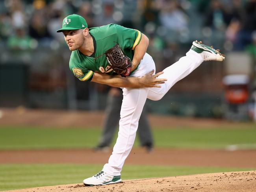
[[[0,125],[17,126],[50,126],[50,127],[101,127],[104,120],[103,111],[62,111],[62,110],[35,110],[18,107],[0,108]],[[148,115],[152,127],[175,126],[231,126],[241,127],[246,123],[229,122],[209,118],[187,118],[169,115]]]

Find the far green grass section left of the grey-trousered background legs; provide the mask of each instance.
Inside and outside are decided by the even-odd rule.
[[[0,127],[0,149],[91,148],[100,129]]]

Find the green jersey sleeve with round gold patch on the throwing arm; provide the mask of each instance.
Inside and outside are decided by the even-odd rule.
[[[69,61],[69,68],[80,81],[91,81],[94,71],[75,63],[72,59]]]

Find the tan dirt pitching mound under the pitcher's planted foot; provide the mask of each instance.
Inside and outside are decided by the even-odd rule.
[[[123,183],[103,186],[83,186],[79,183],[6,192],[255,192],[255,189],[256,171],[249,171],[124,180]]]

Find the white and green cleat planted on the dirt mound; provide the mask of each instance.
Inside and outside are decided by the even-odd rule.
[[[83,184],[85,186],[108,185],[108,184],[120,183],[120,182],[122,182],[121,175],[112,176],[103,171],[99,172],[93,177],[89,177],[83,180]]]

